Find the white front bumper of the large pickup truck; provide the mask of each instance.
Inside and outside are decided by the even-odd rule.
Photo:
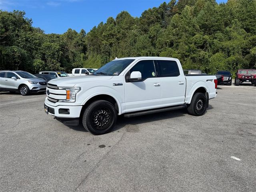
[[[56,118],[79,118],[83,106],[57,105],[52,106],[47,98],[44,105],[49,108],[48,113]]]

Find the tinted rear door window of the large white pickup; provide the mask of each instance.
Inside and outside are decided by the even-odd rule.
[[[160,77],[177,77],[180,75],[180,70],[176,61],[157,60]]]

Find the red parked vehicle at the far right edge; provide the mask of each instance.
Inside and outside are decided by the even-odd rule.
[[[256,86],[256,69],[237,70],[235,85],[239,86],[239,84],[243,82],[251,82],[254,86]]]

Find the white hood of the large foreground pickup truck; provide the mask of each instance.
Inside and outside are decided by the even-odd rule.
[[[55,84],[58,87],[74,87],[76,84],[80,84],[80,83],[110,80],[112,77],[113,76],[101,76],[101,75],[72,76],[72,77],[56,78],[48,81],[48,83]]]

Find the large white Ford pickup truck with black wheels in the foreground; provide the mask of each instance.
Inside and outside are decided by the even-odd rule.
[[[215,75],[184,75],[180,61],[164,57],[130,57],[110,61],[88,76],[50,80],[45,112],[67,125],[105,134],[117,116],[139,116],[187,108],[203,115],[216,97]]]

